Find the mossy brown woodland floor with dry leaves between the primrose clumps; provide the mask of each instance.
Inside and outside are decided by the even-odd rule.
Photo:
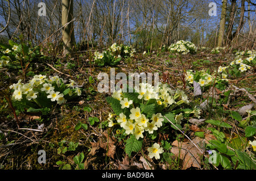
[[[115,67],[115,73],[123,72],[138,72],[138,73],[159,73],[161,82],[167,82],[171,87],[183,89],[183,70],[201,70],[209,69],[216,70],[219,65],[229,64],[234,60],[232,53],[211,54],[210,52],[200,52],[195,55],[187,54],[179,57],[172,56],[168,52],[154,53],[150,56],[143,56],[142,53],[136,53],[130,62],[121,62]],[[69,64],[68,64],[69,62]],[[182,63],[181,63],[182,62]],[[71,63],[71,64],[70,64]],[[51,65],[51,66],[49,66]],[[6,170],[30,170],[30,169],[59,169],[65,164],[71,165],[71,169],[75,169],[76,164],[73,158],[80,153],[84,153],[83,161],[85,169],[149,169],[145,166],[143,157],[147,157],[146,152],[139,151],[133,154],[131,158],[127,157],[124,151],[124,143],[115,139],[116,132],[108,128],[105,121],[108,118],[112,108],[106,102],[106,97],[110,94],[97,92],[97,75],[100,72],[109,74],[110,68],[100,68],[96,65],[89,65],[87,56],[74,57],[71,60],[59,58],[55,63],[43,62],[32,65],[35,74],[42,72],[59,75],[63,79],[73,79],[78,85],[84,88],[82,96],[78,100],[69,102],[60,109],[56,109],[48,116],[39,117],[39,115],[20,114],[21,128],[18,129],[11,110],[6,107],[6,103],[1,100],[1,115],[0,128],[5,137],[0,142],[0,169]],[[255,69],[254,69],[255,70]],[[256,77],[255,71],[251,71],[243,75],[244,78],[232,78],[229,85],[237,87],[249,87],[249,93],[255,97],[256,95]],[[15,73],[11,73],[14,77],[10,81],[16,82],[19,77]],[[254,74],[253,76],[248,76]],[[89,77],[92,76],[94,81],[89,82]],[[189,99],[200,103],[203,96],[200,98],[193,97],[189,86],[184,90]],[[239,107],[251,103],[251,100],[241,94],[236,94],[230,100],[228,105],[224,105],[224,110],[237,111]],[[90,111],[86,110],[90,107]],[[232,129],[221,128],[226,134],[226,137],[244,137],[244,130],[237,126],[229,117],[222,115],[216,116],[216,112],[203,112],[202,117],[205,119],[214,119],[222,117],[222,121],[232,125]],[[88,123],[89,117],[98,117],[100,120],[94,125]],[[88,129],[76,130],[76,125],[81,123],[88,124]],[[38,125],[44,123],[43,132],[32,131],[37,129]],[[189,123],[189,129],[186,134],[191,138],[195,138],[195,130],[205,131],[212,125],[205,123],[197,127]],[[27,129],[24,129],[27,128]],[[156,141],[161,142],[166,140],[174,143],[180,138],[183,142],[188,141],[183,134],[159,134]],[[68,147],[70,142],[79,143],[77,148],[68,151],[62,151]],[[109,155],[109,150],[115,146],[114,153]],[[146,145],[145,145],[146,146]],[[67,148],[66,148],[67,149]],[[38,163],[38,151],[46,151],[46,163]],[[247,150],[251,153],[251,150]],[[253,154],[253,153],[251,153]],[[255,158],[255,157],[254,157]],[[170,158],[170,162],[158,162],[154,159],[149,159],[150,165],[154,169],[182,169],[182,161],[174,154]],[[57,164],[58,163],[58,164]],[[188,169],[195,169],[189,167]],[[198,167],[196,169],[199,169]],[[201,163],[201,169],[216,169],[209,163]]]

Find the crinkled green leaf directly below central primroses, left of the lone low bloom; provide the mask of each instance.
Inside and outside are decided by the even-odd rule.
[[[131,156],[131,152],[138,152],[142,148],[143,140],[137,140],[132,134],[125,144],[125,152]]]

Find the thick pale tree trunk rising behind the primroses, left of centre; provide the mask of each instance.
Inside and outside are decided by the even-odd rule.
[[[71,54],[73,45],[76,43],[73,25],[73,0],[61,0],[63,26],[63,54]]]

